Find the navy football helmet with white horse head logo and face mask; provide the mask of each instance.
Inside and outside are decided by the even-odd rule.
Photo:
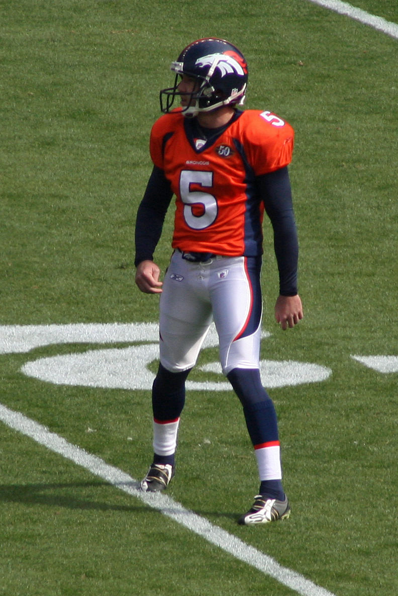
[[[182,108],[184,116],[196,116],[222,105],[242,105],[245,100],[248,70],[244,55],[225,39],[205,38],[192,42],[172,63],[176,73],[174,86],[161,89],[160,109],[169,113],[176,96],[191,95],[192,101]],[[197,80],[191,94],[178,90],[179,77]]]

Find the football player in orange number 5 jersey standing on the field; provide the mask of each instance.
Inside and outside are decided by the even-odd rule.
[[[198,39],[171,68],[175,83],[160,92],[164,115],[151,131],[153,171],[136,219],[136,284],[160,294],[154,457],[141,489],[163,491],[174,476],[185,381],[214,321],[223,374],[242,403],[260,478],[239,523],[272,522],[287,518],[290,505],[275,408],[259,371],[262,221],[265,211],[279,271],[275,317],[285,330],[303,317],[287,169],[294,132],[268,110],[240,109],[247,63],[229,42]],[[153,255],[173,195],[173,254],[162,283]]]

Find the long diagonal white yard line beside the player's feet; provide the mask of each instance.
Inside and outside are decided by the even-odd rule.
[[[244,563],[251,565],[260,572],[276,579],[279,583],[291,588],[297,594],[301,594],[302,596],[334,596],[332,592],[317,586],[300,575],[300,573],[287,569],[287,567],[282,567],[275,559],[245,544],[237,536],[229,534],[220,527],[214,526],[204,517],[185,509],[169,496],[161,493],[139,491],[138,482],[128,474],[107,464],[99,457],[89,454],[84,449],[72,445],[66,439],[63,439],[63,437],[58,436],[58,434],[51,433],[45,426],[35,422],[35,420],[31,420],[23,414],[14,412],[1,404],[0,420],[11,427],[11,429],[25,434],[40,443],[40,445],[82,466],[111,485],[141,499],[149,507],[157,509],[163,515],[170,517],[175,522],[195,532],[195,534],[202,536],[208,542],[222,548],[223,551],[229,552],[235,558],[244,561]],[[259,531],[261,532],[262,529],[259,529]]]

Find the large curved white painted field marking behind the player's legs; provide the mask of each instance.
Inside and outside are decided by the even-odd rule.
[[[262,337],[269,337],[263,331]],[[124,349],[89,350],[41,358],[27,362],[24,374],[55,384],[111,389],[148,389],[154,374],[148,365],[158,358],[157,323],[79,323],[70,325],[2,325],[0,353],[29,352],[35,347],[61,343],[152,342]],[[153,343],[156,342],[156,343]],[[218,336],[211,325],[203,348],[216,347]],[[216,362],[202,367],[204,371],[222,373]],[[284,387],[324,381],[329,368],[306,362],[262,361],[261,374],[266,387]],[[228,391],[228,382],[187,381],[188,390]]]

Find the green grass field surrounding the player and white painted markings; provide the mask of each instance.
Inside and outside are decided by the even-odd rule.
[[[398,23],[396,2],[355,5]],[[273,321],[266,224],[271,336],[262,358],[332,374],[270,389],[288,522],[236,523],[258,483],[232,392],[188,393],[168,492],[336,596],[396,596],[397,373],[352,358],[398,353],[396,39],[307,0],[0,0],[0,325],[157,321],[157,297],[133,281],[148,138],[170,62],[210,35],[247,57],[247,107],[296,129],[290,173],[305,318],[285,333]],[[172,213],[156,255],[163,269],[171,231]],[[0,403],[140,478],[151,457],[149,390],[21,372],[48,356],[132,343],[4,353]],[[216,358],[206,349],[199,364]],[[1,596],[297,593],[1,422],[0,501]]]

